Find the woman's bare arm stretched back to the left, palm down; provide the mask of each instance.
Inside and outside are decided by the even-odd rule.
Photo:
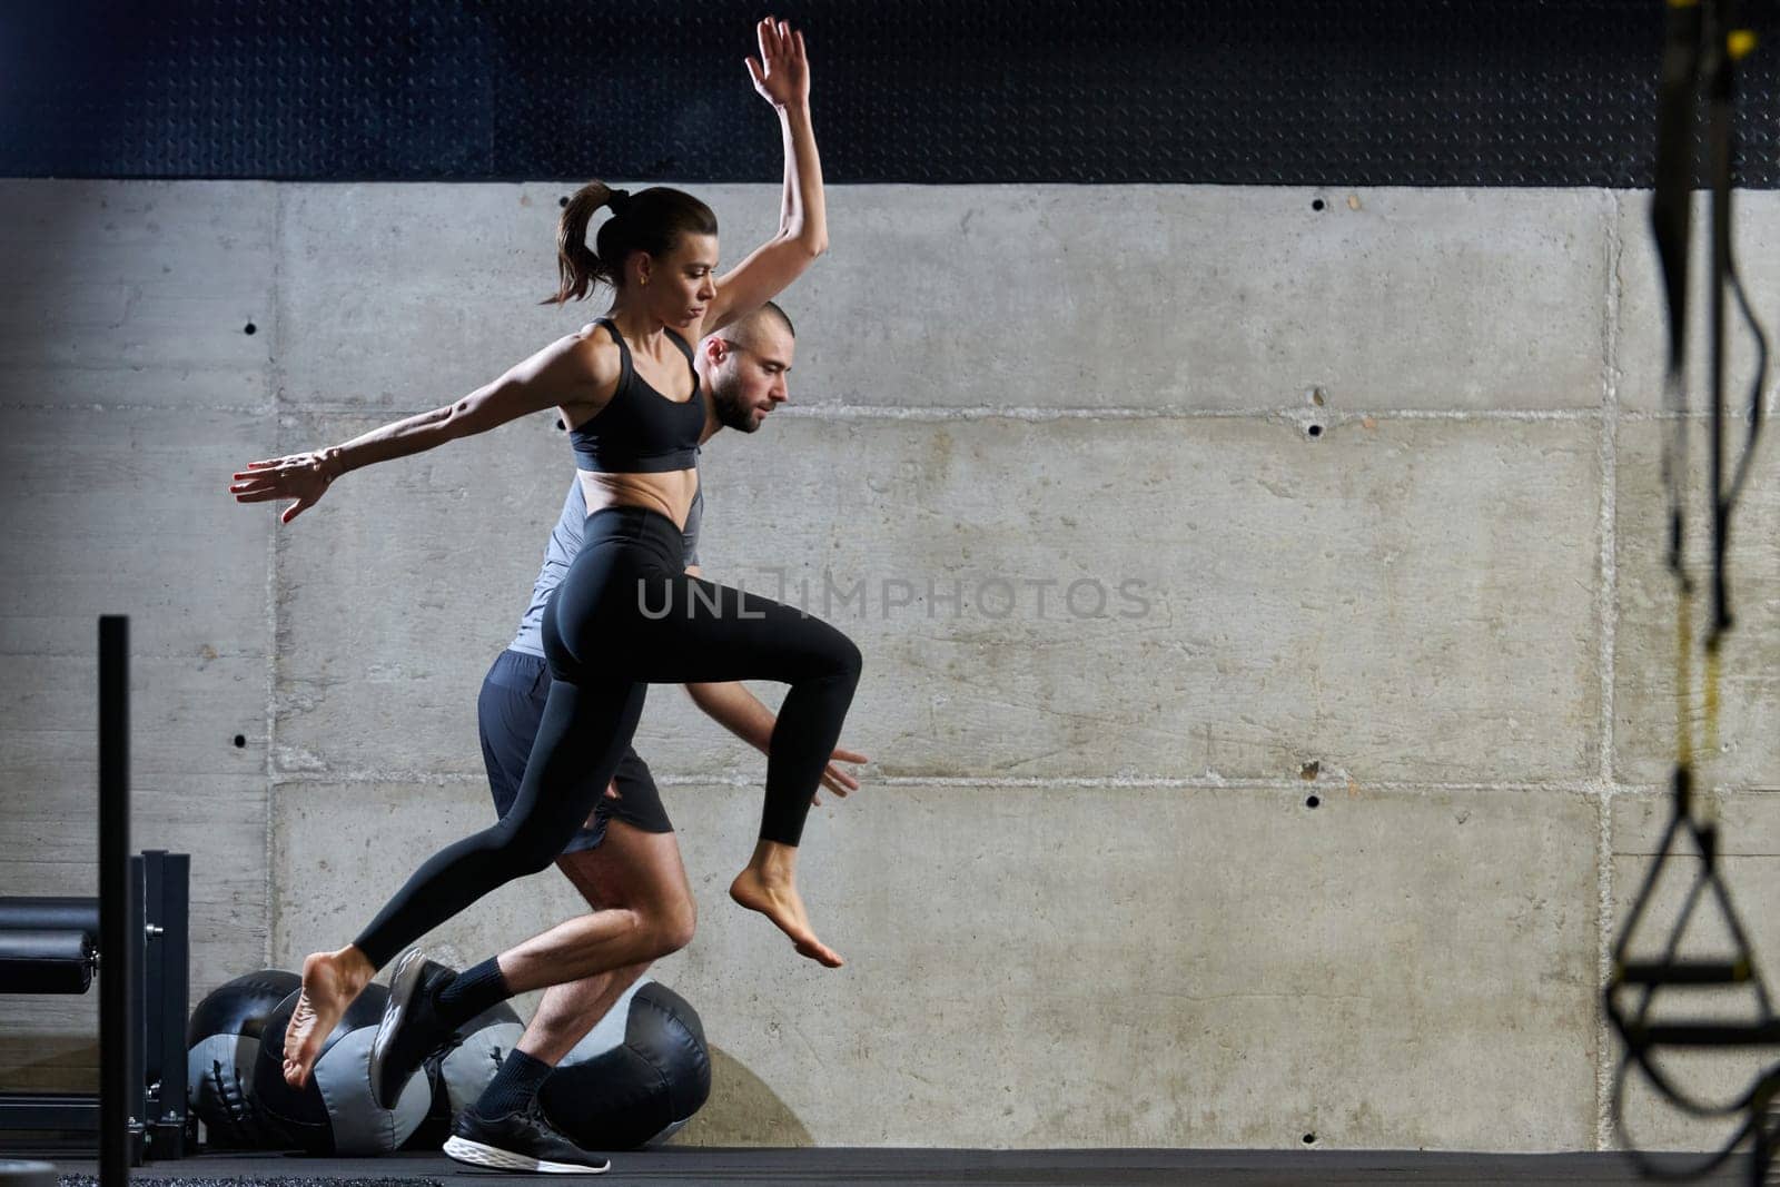
[[[598,411],[612,399],[618,370],[618,347],[609,340],[570,335],[443,408],[393,420],[344,445],[251,461],[233,475],[228,489],[239,504],[294,498],[279,516],[290,523],[349,470],[420,454],[546,408],[580,404],[589,413]]]

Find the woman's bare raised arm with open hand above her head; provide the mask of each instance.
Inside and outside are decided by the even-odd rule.
[[[717,279],[717,299],[705,311],[700,336],[753,313],[828,251],[828,206],[822,201],[822,160],[810,126],[810,61],[803,34],[769,18],[760,21],[756,36],[760,59],[748,59],[748,73],[755,91],[778,110],[785,142],[780,230]]]

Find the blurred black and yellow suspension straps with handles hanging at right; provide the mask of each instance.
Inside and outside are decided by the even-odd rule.
[[[1780,1066],[1773,1066],[1725,1102],[1702,1102],[1673,1084],[1655,1059],[1664,1048],[1753,1048],[1780,1046],[1780,1016],[1775,1014],[1750,940],[1730,900],[1719,870],[1719,833],[1709,795],[1695,792],[1693,739],[1693,603],[1695,582],[1686,566],[1686,475],[1687,475],[1687,260],[1693,215],[1693,130],[1700,93],[1707,103],[1707,171],[1711,182],[1711,260],[1707,352],[1712,399],[1711,420],[1711,511],[1712,511],[1712,603],[1705,632],[1705,671],[1702,682],[1703,749],[1718,749],[1718,689],[1721,642],[1732,626],[1727,580],[1727,545],[1730,518],[1743,495],[1750,459],[1762,425],[1762,386],[1768,374],[1768,338],[1750,310],[1743,278],[1732,253],[1732,180],[1736,141],[1736,66],[1755,48],[1755,34],[1741,20],[1741,0],[1668,0],[1663,50],[1663,75],[1657,91],[1655,194],[1650,226],[1663,267],[1668,299],[1668,363],[1663,377],[1663,484],[1668,495],[1668,568],[1679,591],[1675,639],[1675,769],[1671,776],[1670,820],[1657,858],[1645,874],[1630,915],[1613,950],[1613,977],[1606,988],[1607,1018],[1625,1045],[1613,1082],[1613,1119],[1622,1144],[1650,1178],[1698,1178],[1721,1166],[1736,1148],[1753,1137],[1753,1182],[1766,1182],[1780,1132],[1769,1119],[1769,1102],[1780,1094]],[[1748,434],[1728,488],[1725,484],[1725,297],[1736,295],[1743,320],[1757,345],[1757,368],[1750,386]],[[1687,852],[1691,842],[1693,852]],[[1657,881],[1666,867],[1684,858],[1698,861],[1696,876],[1682,902],[1680,915],[1663,941],[1657,959],[1632,959],[1632,938],[1646,922]],[[1682,938],[1702,902],[1711,900],[1730,936],[1730,952],[1716,959],[1680,957]],[[1652,927],[1654,931],[1654,927]],[[1652,1004],[1659,995],[1723,989],[1736,986],[1753,1002],[1753,1016],[1744,1020],[1668,1018],[1654,1020]],[[1728,1143],[1705,1162],[1689,1167],[1664,1167],[1646,1159],[1625,1132],[1625,1084],[1632,1066],[1671,1105],[1695,1118],[1739,1118]]]

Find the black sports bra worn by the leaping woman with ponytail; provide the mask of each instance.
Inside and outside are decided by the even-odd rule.
[[[595,473],[666,473],[696,466],[698,438],[705,431],[705,400],[698,388],[698,368],[692,367],[692,347],[668,331],[692,372],[692,399],[669,400],[637,374],[630,363],[630,347],[612,319],[596,319],[595,326],[605,326],[605,333],[618,343],[618,390],[605,408],[570,429],[575,464]]]

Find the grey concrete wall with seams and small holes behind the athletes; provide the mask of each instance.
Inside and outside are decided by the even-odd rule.
[[[562,192],[0,183],[0,893],[93,883],[105,610],[137,616],[139,844],[196,856],[194,993],[344,943],[488,820],[475,690],[570,480],[552,418],[285,529],[224,484],[596,313],[534,304]],[[726,258],[771,230],[773,187],[707,196]],[[792,406],[707,448],[701,552],[867,657],[867,788],[805,856],[851,963],[728,904],[764,762],[657,689],[637,746],[703,908],[659,975],[717,1048],[685,1141],[1613,1146],[1597,1002],[1673,758],[1645,203],[837,190]],[[1773,315],[1780,201],[1741,214]],[[1776,477],[1703,769],[1769,961]],[[539,877],[433,941],[575,909]],[[0,1075],[78,1070],[89,1004],[0,1004]]]

